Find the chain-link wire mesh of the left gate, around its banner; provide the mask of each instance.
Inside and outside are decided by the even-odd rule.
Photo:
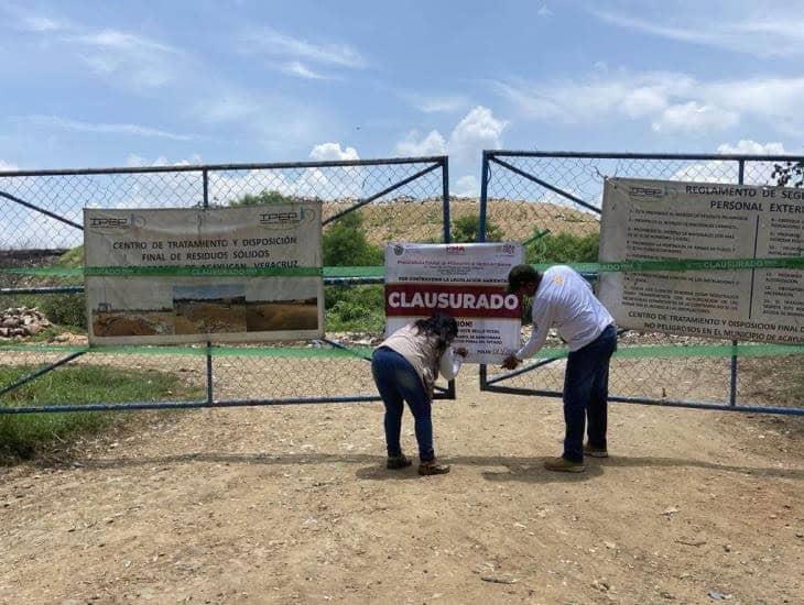
[[[444,241],[445,172],[446,158],[432,157],[0,174],[0,311],[36,308],[52,323],[24,338],[0,334],[0,366],[14,367],[24,375],[87,346],[80,292],[84,208],[197,208],[317,200],[323,205],[325,240],[327,233],[346,226],[347,238],[352,237],[350,243],[359,244],[359,250],[336,246],[330,257],[325,253],[325,264],[382,265],[384,245],[390,241]],[[368,348],[381,340],[384,330],[382,286],[371,285],[376,282],[356,277],[325,286],[325,341],[232,345],[222,354],[214,349],[209,386],[215,405],[376,396],[366,359]],[[64,292],[46,294],[44,288]],[[366,299],[370,299],[368,304],[360,304]],[[21,344],[26,349],[21,350]],[[138,348],[115,354],[91,351],[68,365],[106,367],[121,374],[169,374],[178,377],[181,388],[163,389],[152,400],[206,399],[204,348],[197,354],[141,349],[142,354]],[[0,391],[7,386],[0,384]],[[110,400],[120,400],[112,391],[110,381]],[[6,405],[9,400],[7,396]]]

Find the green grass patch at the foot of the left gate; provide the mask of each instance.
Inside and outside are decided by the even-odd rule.
[[[9,385],[34,370],[2,366],[0,385]],[[1,396],[0,406],[176,400],[200,396],[200,388],[185,387],[173,374],[86,365],[62,367],[35,378]],[[120,414],[99,411],[0,415],[0,459],[32,458],[56,443],[98,432],[122,420]]]

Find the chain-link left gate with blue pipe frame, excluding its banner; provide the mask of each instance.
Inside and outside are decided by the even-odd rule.
[[[317,199],[323,204],[325,237],[346,217],[359,216],[357,224],[377,253],[392,240],[449,241],[448,179],[444,156],[0,173],[0,310],[37,306],[65,314],[73,309],[79,321],[83,276],[76,246],[83,243],[85,207],[228,206],[271,193]],[[377,290],[382,287],[382,267],[325,267],[324,282],[328,299],[345,288]],[[129,372],[143,380],[149,373],[170,373],[178,382],[166,396],[128,400],[110,378],[98,400],[66,406],[12,404],[0,407],[0,414],[379,399],[368,364],[376,337],[328,331],[320,341],[207,345],[181,352],[170,346],[93,350],[79,333],[34,338],[39,342],[1,339],[0,370],[15,372],[7,373],[11,377],[4,383],[0,380],[0,396],[11,396],[62,366]],[[454,386],[442,385],[436,396],[454,397]]]

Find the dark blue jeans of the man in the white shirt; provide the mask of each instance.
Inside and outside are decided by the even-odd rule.
[[[589,444],[606,449],[609,398],[609,360],[617,350],[617,329],[606,328],[586,346],[569,353],[564,374],[564,458],[584,460],[584,425],[589,421]]]

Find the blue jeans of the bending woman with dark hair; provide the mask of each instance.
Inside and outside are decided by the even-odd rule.
[[[415,418],[419,459],[427,462],[435,458],[431,400],[422,378],[411,363],[396,351],[381,346],[371,356],[371,374],[385,404],[385,443],[388,455],[402,455],[400,433],[404,402]]]

